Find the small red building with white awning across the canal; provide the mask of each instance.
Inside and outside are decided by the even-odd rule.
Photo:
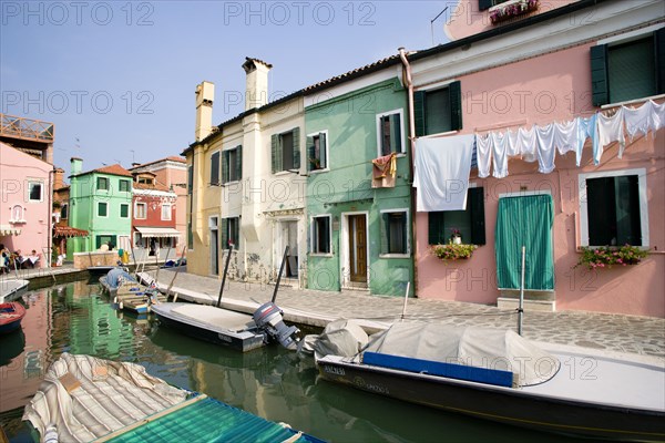
[[[176,227],[177,195],[166,185],[157,183],[155,174],[134,173],[132,239],[134,247],[145,249],[149,256],[163,249],[176,249],[181,243]],[[161,257],[165,257],[165,251]],[[170,254],[175,257],[176,253]]]

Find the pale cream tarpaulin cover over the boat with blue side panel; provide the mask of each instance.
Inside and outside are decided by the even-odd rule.
[[[528,387],[550,380],[561,363],[512,330],[398,322],[370,337],[365,351],[495,369]]]

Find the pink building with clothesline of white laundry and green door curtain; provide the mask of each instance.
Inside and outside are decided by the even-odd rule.
[[[469,182],[463,209],[418,205],[418,297],[515,307],[525,246],[528,309],[665,317],[664,28],[659,1],[461,0],[454,40],[409,54],[417,174],[475,142],[470,176],[417,184]],[[470,259],[431,254],[452,229]],[[626,244],[647,256],[576,266]]]

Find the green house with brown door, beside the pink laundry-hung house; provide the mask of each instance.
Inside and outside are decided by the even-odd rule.
[[[400,296],[412,281],[408,104],[396,62],[305,97],[311,289]]]

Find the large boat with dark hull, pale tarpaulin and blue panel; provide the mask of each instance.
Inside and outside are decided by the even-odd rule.
[[[665,441],[662,359],[541,349],[510,330],[436,323],[395,323],[366,346],[351,336],[331,328],[315,341],[324,379],[541,431]]]

